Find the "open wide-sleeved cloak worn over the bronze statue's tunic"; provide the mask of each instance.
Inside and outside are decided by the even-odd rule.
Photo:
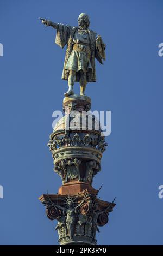
[[[71,27],[68,25],[58,24],[58,29],[56,33],[55,43],[59,45],[61,48],[64,48],[67,45],[66,56],[64,62],[64,68],[62,71],[62,79],[68,80],[69,70],[66,70],[66,63],[68,58],[71,55],[73,50],[73,37],[76,29],[78,27]],[[88,29],[89,40],[90,40],[90,48],[91,48],[91,65],[92,69],[90,69],[87,74],[87,82],[96,82],[96,69],[95,69],[95,58],[99,61],[99,63],[103,64],[102,59],[105,59],[105,44],[102,41],[101,37],[96,37],[97,33]],[[79,82],[80,76],[79,72],[76,73],[76,82]]]

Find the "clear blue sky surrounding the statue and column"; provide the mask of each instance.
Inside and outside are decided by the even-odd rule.
[[[98,244],[162,244],[162,68],[163,1],[0,2],[1,133],[0,243],[57,244],[55,222],[37,199],[57,193],[47,145],[52,112],[61,110],[67,83],[61,80],[65,49],[54,44],[55,30],[38,17],[76,26],[87,13],[91,29],[106,43],[104,66],[96,62],[97,82],[89,84],[92,110],[111,110],[111,135],[102,171],[93,186],[116,207],[100,228]],[[79,92],[79,85],[75,86]]]

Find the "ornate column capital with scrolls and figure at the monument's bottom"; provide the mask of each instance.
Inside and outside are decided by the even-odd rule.
[[[78,164],[77,159],[75,162]],[[96,245],[98,226],[108,223],[109,207],[114,205],[109,204],[101,210],[97,198],[90,194],[84,194],[82,199],[79,196],[68,196],[62,201],[65,202],[64,206],[55,204],[49,197],[44,201],[47,217],[58,221],[55,230],[58,231],[60,245],[80,242],[81,239],[85,243]]]

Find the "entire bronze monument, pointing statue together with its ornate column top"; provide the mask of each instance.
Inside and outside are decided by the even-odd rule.
[[[97,197],[101,188],[92,187],[108,144],[99,120],[89,112],[91,98],[84,93],[87,82],[96,81],[95,58],[103,64],[105,44],[89,29],[87,14],[79,15],[78,27],[40,19],[46,27],[57,29],[56,44],[61,48],[67,45],[62,79],[68,80],[68,91],[62,104],[65,116],[48,141],[54,172],[61,177],[62,185],[58,193],[43,194],[39,200],[46,207],[47,217],[58,221],[55,230],[60,245],[96,245],[98,227],[108,223],[115,199],[112,203],[101,200]],[[73,92],[75,81],[80,84],[80,96]]]

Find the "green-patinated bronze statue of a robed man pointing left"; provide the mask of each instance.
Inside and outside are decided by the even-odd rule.
[[[80,83],[80,95],[85,95],[87,82],[96,82],[95,58],[103,64],[105,44],[100,35],[89,29],[87,14],[80,14],[78,27],[54,23],[42,19],[42,23],[57,29],[55,43],[61,48],[67,45],[62,79],[68,80],[65,96],[73,95],[74,82]]]

